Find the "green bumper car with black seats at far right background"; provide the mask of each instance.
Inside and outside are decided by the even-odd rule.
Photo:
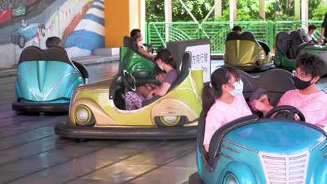
[[[327,47],[317,45],[314,40],[303,41],[298,31],[277,33],[275,47],[274,64],[276,67],[286,70],[295,69],[297,57],[305,52],[320,56],[327,63]]]

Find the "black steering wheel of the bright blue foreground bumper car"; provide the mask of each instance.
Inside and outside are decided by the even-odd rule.
[[[300,121],[305,121],[305,116],[302,112],[296,107],[293,107],[291,105],[281,105],[274,107],[271,109],[267,114],[265,118],[270,118],[271,116],[275,115],[275,118],[286,118],[286,119],[292,119],[295,120],[294,115],[297,114],[300,118]]]

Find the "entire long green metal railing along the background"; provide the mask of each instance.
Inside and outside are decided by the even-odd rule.
[[[211,52],[224,53],[224,44],[227,34],[233,26],[242,26],[243,31],[250,31],[256,40],[268,43],[270,49],[275,47],[275,36],[279,31],[293,31],[300,27],[305,28],[315,24],[320,28],[322,21],[248,21],[248,22],[150,22],[146,25],[147,43],[154,45],[157,50],[161,45],[166,47],[166,42],[189,40],[197,38],[210,38]],[[320,31],[315,34],[319,38]]]

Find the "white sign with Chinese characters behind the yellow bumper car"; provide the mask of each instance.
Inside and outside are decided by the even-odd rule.
[[[192,53],[191,69],[202,69],[203,82],[210,82],[210,44],[187,47],[185,51]]]

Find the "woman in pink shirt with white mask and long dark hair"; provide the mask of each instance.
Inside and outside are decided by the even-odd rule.
[[[222,67],[211,75],[211,82],[203,87],[202,102],[205,117],[203,145],[208,152],[210,139],[218,128],[242,116],[251,115],[251,110],[242,95],[243,83],[237,70]]]

